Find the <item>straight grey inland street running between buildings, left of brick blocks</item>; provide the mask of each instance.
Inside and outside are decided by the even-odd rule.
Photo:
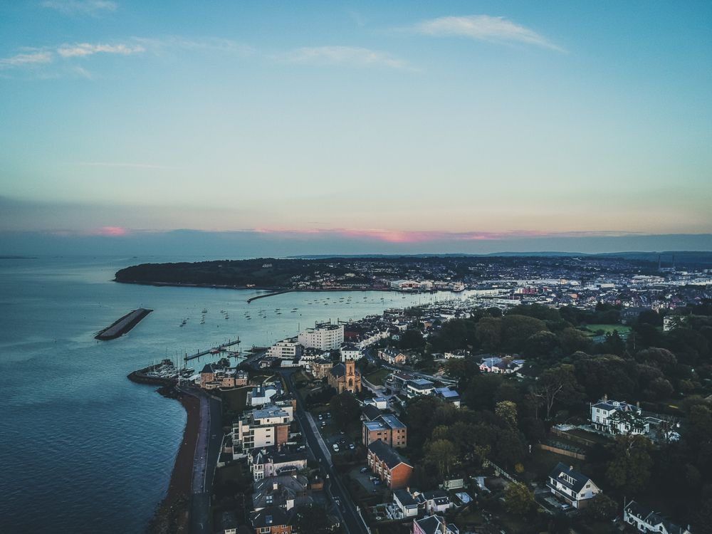
[[[293,393],[297,399],[297,410],[294,415],[302,428],[306,443],[315,458],[318,460],[323,471],[325,471],[328,475],[328,481],[326,484],[327,493],[330,495],[334,503],[336,499],[338,499],[341,503],[341,506],[336,506],[336,508],[339,512],[341,523],[346,533],[367,534],[368,531],[366,526],[364,525],[361,516],[356,511],[356,507],[351,501],[351,496],[346,491],[346,488],[344,488],[340,478],[337,477],[333,469],[331,464],[331,454],[328,446],[326,446],[321,434],[318,429],[316,429],[313,419],[310,419],[310,414],[305,411],[302,399],[300,398],[297,389],[294,387],[292,382],[292,375],[294,372],[294,369],[281,370],[280,374],[284,377],[284,381],[286,382],[289,391]]]

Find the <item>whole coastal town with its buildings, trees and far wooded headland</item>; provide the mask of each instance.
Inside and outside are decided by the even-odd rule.
[[[315,323],[237,360],[221,348],[199,372],[170,361],[142,370],[177,382],[211,419],[201,419],[210,434],[202,463],[196,451],[200,491],[194,483],[192,506],[182,501],[164,525],[712,531],[709,265],[672,256],[261,259],[249,274],[244,262],[208,263],[137,266],[117,281],[465,293]],[[209,528],[194,520],[201,507]]]

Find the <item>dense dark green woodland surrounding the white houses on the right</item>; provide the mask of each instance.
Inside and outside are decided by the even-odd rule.
[[[529,446],[544,441],[552,424],[584,423],[590,402],[607,394],[662,414],[681,439],[652,444],[643,436],[617,436],[608,445],[595,445],[581,471],[604,488],[604,496],[580,514],[578,526],[614,517],[625,497],[689,518],[695,533],[712,532],[712,409],[704,398],[712,378],[712,307],[678,311],[689,315],[685,328],[663,332],[661,315],[645,312],[632,323],[627,340],[613,332],[602,342],[580,328],[618,323],[619,311],[607,305],[595,311],[539,305],[505,314],[478,310],[473,318],[444,323],[427,340],[414,329],[402,340],[424,355],[511,352],[525,357],[528,366],[518,380],[482,374],[474,358],[448,360],[446,370],[459,380],[463,407],[435,397],[409,400],[407,455],[417,466],[412,483],[435,487],[448,476],[476,472],[483,459],[523,481],[541,481],[553,466],[536,465]],[[536,523],[532,499],[526,486],[513,486],[506,495],[511,512],[530,515]],[[538,528],[565,529],[569,520],[554,523]]]

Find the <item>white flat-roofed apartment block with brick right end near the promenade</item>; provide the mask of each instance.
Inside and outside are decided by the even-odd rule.
[[[233,443],[239,444],[245,453],[256,447],[286,444],[290,421],[290,414],[280,407],[253,410],[233,423]],[[241,457],[236,449],[233,447],[233,458]]]

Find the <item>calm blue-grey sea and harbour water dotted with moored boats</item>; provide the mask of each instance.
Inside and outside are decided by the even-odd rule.
[[[167,491],[186,415],[155,387],[130,382],[133,370],[237,338],[246,351],[315,321],[459,298],[329,291],[248,304],[264,292],[112,281],[137,263],[206,259],[217,258],[0,258],[0,533],[145,531]],[[94,339],[140,307],[154,311],[130,333]]]

